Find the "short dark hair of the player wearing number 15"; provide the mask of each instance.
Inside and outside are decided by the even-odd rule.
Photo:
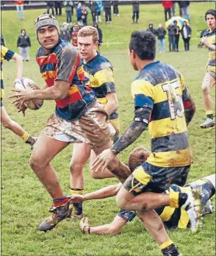
[[[134,50],[141,60],[153,60],[155,58],[155,36],[152,32],[141,30],[131,33],[129,49]]]

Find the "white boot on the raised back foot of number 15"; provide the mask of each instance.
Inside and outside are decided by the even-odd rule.
[[[201,198],[202,192],[199,188],[184,192],[187,195],[186,202],[181,206],[185,209],[190,219],[190,230],[196,233],[201,221]]]

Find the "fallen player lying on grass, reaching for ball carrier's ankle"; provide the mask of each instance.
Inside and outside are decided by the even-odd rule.
[[[128,160],[128,167],[130,167],[131,172],[139,167],[147,157],[149,156],[148,150],[142,147],[138,147],[133,150]],[[107,186],[106,188],[99,189],[92,193],[85,195],[75,195],[71,197],[72,202],[84,202],[87,200],[109,198],[117,195],[122,184],[115,184]],[[211,214],[213,212],[213,205],[211,202],[211,197],[215,194],[215,174],[201,178],[198,181],[194,181],[190,184],[186,184],[184,187],[179,187],[172,184],[171,187],[165,191],[169,194],[170,191],[190,191],[194,188],[200,188],[202,190],[201,208],[202,216]],[[169,206],[159,207],[155,209],[155,212],[159,214],[165,227],[169,229],[187,228],[190,227],[190,219],[188,218],[186,211],[184,209],[173,209]],[[103,226],[90,226],[88,218],[82,218],[80,223],[80,228],[83,233],[96,233],[96,234],[117,234],[123,228],[128,221],[132,221],[136,216],[135,212],[129,212],[126,210],[120,210],[117,216],[109,224]]]

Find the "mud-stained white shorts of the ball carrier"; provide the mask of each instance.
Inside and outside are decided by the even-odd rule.
[[[75,121],[66,121],[52,114],[40,135],[62,142],[85,142],[97,149],[109,142],[114,133],[103,105],[95,103]]]

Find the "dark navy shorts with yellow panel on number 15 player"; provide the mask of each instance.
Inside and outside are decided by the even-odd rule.
[[[124,182],[124,188],[132,195],[139,195],[152,191],[163,193],[171,184],[183,187],[190,166],[186,167],[156,167],[150,163],[143,163]]]

